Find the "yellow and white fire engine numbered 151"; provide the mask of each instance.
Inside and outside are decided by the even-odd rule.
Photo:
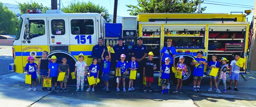
[[[246,14],[250,12],[245,11]],[[28,13],[39,12],[28,10]],[[47,51],[48,57],[67,57],[72,72],[80,53],[84,54],[86,63],[92,63],[92,47],[98,44],[100,37],[103,37],[105,46],[115,46],[118,38],[123,37],[124,45],[128,46],[128,56],[132,46],[137,44],[136,38],[142,37],[148,51],[154,53],[153,58],[158,62],[155,73],[159,74],[160,51],[166,46],[166,40],[172,39],[172,46],[177,51],[175,63],[181,55],[186,59],[188,72],[184,85],[193,81],[190,62],[199,50],[203,51],[203,58],[208,61],[211,61],[213,54],[230,61],[234,59],[234,52],[240,52],[244,59],[248,55],[249,22],[246,22],[245,14],[138,14],[137,17],[124,17],[122,24],[107,23],[103,16],[99,13],[69,14],[60,10],[47,10],[46,14],[23,14],[13,43],[14,63],[9,65],[10,71],[23,73],[28,56],[36,57],[35,62],[38,63],[42,52]],[[57,63],[62,62],[57,60]],[[114,74],[114,67],[111,69],[110,73]],[[246,73],[244,69],[246,65],[240,73]],[[172,81],[176,82],[176,79]]]

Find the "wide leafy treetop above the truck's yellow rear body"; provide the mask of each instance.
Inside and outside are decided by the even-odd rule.
[[[137,6],[126,5],[131,8],[130,15],[137,16],[138,13],[195,13],[198,4],[202,0],[137,0]],[[206,7],[200,9],[202,13]]]

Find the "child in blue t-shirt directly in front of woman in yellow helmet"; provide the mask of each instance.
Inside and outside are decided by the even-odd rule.
[[[166,88],[167,88],[167,85],[168,85],[169,79],[170,79],[171,65],[169,63],[170,63],[170,58],[166,57],[165,58],[165,63],[162,65],[162,70],[161,70],[161,73],[162,73],[162,76],[161,76],[162,94],[168,93],[168,90]],[[164,87],[165,87],[165,90],[164,90]]]

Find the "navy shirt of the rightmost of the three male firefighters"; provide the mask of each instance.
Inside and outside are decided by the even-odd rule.
[[[135,46],[132,46],[132,53],[134,53],[134,56],[137,59],[141,59],[145,53],[148,54],[148,49],[143,44],[141,44],[140,46],[137,44]]]

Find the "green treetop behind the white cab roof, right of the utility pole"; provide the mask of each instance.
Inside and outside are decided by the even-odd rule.
[[[65,13],[101,13],[105,12],[105,16],[103,17],[105,20],[109,19],[108,9],[99,4],[94,4],[93,2],[71,2],[68,6],[61,8],[62,12]],[[109,19],[110,20],[110,19]],[[110,20],[111,21],[111,20]]]

